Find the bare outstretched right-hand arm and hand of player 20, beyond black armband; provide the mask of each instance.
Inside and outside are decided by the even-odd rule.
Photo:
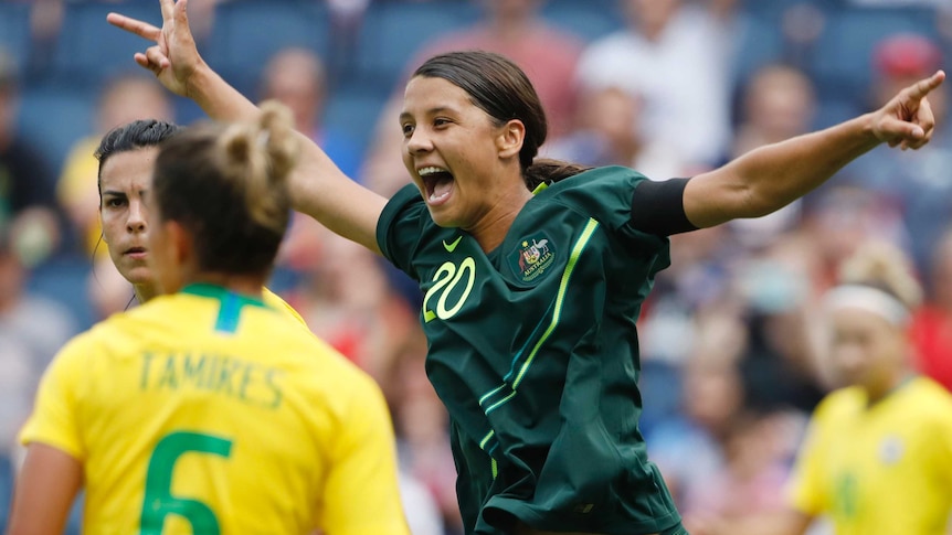
[[[934,118],[925,96],[945,73],[902,89],[882,108],[805,136],[761,147],[685,188],[688,220],[698,227],[780,210],[823,184],[879,143],[918,149],[932,137]]]

